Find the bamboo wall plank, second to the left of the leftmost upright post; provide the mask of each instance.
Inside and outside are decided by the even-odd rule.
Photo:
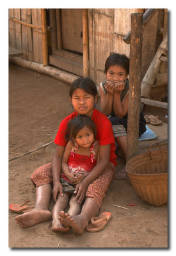
[[[31,9],[21,9],[21,20],[31,24]],[[22,27],[22,52],[24,60],[33,61],[32,29],[25,25]]]

